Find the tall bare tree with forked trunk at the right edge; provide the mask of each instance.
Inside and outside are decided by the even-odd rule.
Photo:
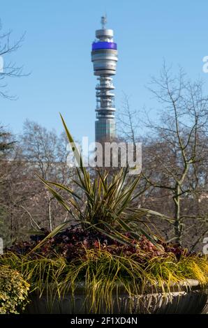
[[[149,163],[143,176],[150,186],[163,189],[172,197],[174,239],[181,244],[187,218],[207,223],[206,213],[201,217],[193,211],[190,215],[186,207],[190,207],[193,198],[198,201],[208,193],[208,98],[202,94],[202,82],[186,80],[183,70],[173,77],[165,64],[161,77],[153,78],[149,89],[162,108],[158,124],[149,120],[151,137],[145,148]]]

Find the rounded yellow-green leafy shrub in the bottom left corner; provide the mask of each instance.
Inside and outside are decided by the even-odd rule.
[[[29,283],[8,266],[0,266],[0,314],[20,313],[28,303]]]

